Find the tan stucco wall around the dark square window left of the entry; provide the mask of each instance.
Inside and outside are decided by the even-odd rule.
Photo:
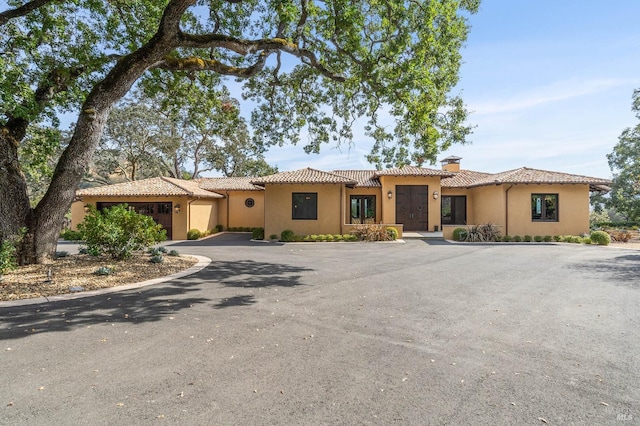
[[[293,220],[292,193],[315,192],[318,194],[318,219]],[[285,229],[296,235],[341,233],[344,185],[330,184],[267,184],[264,191],[265,236],[280,233]]]

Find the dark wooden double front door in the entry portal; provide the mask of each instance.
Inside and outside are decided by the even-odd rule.
[[[405,231],[429,229],[429,187],[426,185],[396,185],[396,223]]]

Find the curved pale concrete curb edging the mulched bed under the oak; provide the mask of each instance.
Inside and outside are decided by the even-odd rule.
[[[211,259],[209,259],[208,257],[199,256],[196,254],[188,254],[186,256],[195,257],[196,259],[198,259],[198,263],[196,263],[195,265],[193,265],[188,269],[185,269],[184,271],[176,272],[175,274],[167,275],[165,277],[154,278],[152,280],[141,281],[139,283],[125,284],[125,285],[109,287],[109,288],[101,288],[99,290],[91,290],[91,291],[85,291],[85,292],[79,292],[79,293],[60,294],[60,295],[49,296],[49,297],[36,297],[33,299],[8,300],[8,301],[0,302],[0,308],[27,306],[27,305],[40,305],[43,303],[59,302],[62,300],[81,299],[84,297],[99,296],[102,294],[117,293],[119,291],[148,287],[150,285],[160,284],[166,281],[171,281],[178,278],[186,277],[188,275],[195,274],[196,272],[201,271],[211,263]]]

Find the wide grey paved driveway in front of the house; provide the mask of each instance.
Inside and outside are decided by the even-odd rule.
[[[637,424],[640,251],[175,244],[138,291],[0,310],[0,424]]]

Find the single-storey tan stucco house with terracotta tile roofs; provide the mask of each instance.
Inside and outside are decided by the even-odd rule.
[[[344,234],[381,223],[406,231],[442,232],[491,223],[507,235],[578,235],[589,231],[589,194],[611,181],[522,167],[502,173],[460,168],[460,157],[441,169],[415,166],[387,170],[311,168],[258,178],[158,177],[81,189],[72,205],[72,228],[88,205],[127,203],[162,224],[170,239],[189,229],[221,225],[285,229],[297,235]]]

